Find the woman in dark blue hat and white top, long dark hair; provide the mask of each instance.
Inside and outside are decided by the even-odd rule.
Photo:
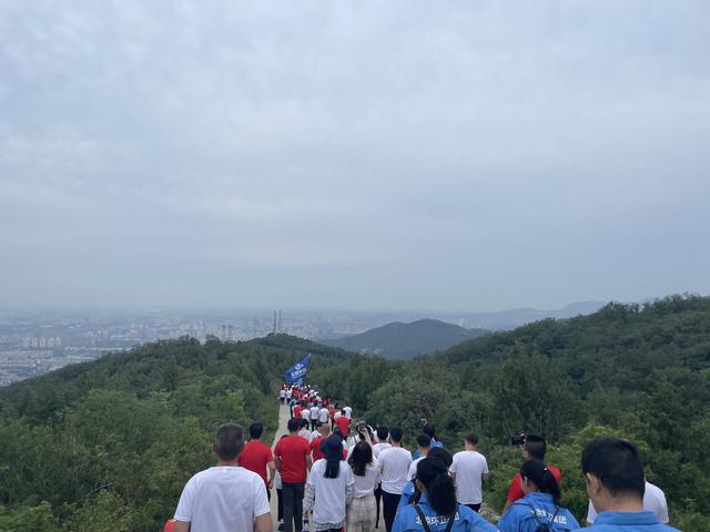
[[[341,530],[345,525],[345,509],[353,500],[355,479],[343,461],[343,440],[333,434],[321,442],[324,459],[317,460],[306,481],[304,511],[312,511],[312,532]]]

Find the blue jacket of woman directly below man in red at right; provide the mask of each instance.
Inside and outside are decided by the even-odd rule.
[[[555,515],[556,510],[557,515]],[[535,532],[538,528],[536,515],[542,523],[549,523],[555,515],[552,524],[555,532],[579,529],[579,523],[571,512],[566,508],[556,507],[549,493],[528,493],[515,501],[498,521],[498,529],[500,532]]]

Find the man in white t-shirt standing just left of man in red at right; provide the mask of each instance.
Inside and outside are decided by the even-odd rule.
[[[484,501],[483,481],[488,478],[488,462],[478,452],[478,437],[468,434],[464,440],[464,450],[454,454],[449,468],[456,482],[456,499],[478,513]]]

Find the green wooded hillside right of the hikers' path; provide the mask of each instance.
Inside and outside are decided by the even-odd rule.
[[[458,448],[483,439],[503,507],[520,451],[513,434],[537,432],[564,470],[564,494],[584,518],[581,447],[597,434],[637,442],[648,478],[686,532],[710,530],[710,298],[672,296],[643,306],[609,304],[586,317],[547,319],[477,338],[412,362],[356,356],[313,380],[338,390],[371,423],[400,424],[412,446],[420,417]]]

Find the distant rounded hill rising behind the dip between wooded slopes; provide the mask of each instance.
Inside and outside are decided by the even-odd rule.
[[[486,329],[466,329],[438,319],[419,319],[410,324],[395,321],[359,335],[323,339],[321,342],[348,351],[365,351],[390,359],[406,359],[447,349],[487,332]]]

